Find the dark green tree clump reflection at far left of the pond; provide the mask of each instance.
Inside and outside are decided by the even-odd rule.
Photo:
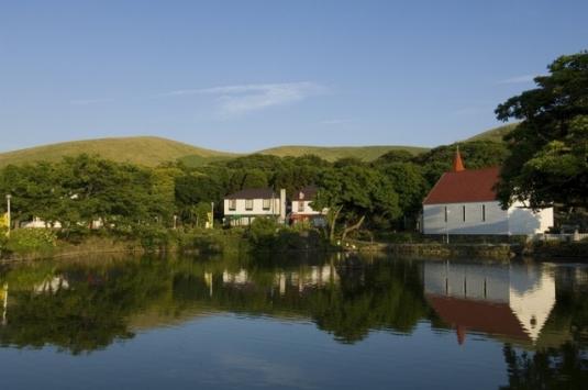
[[[67,289],[51,294],[11,292],[8,323],[0,327],[2,345],[42,347],[53,344],[74,354],[132,337],[126,316],[165,289],[157,266],[136,261],[109,267],[62,270]]]

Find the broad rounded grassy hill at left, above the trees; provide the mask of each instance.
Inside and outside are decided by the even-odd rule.
[[[145,166],[156,166],[164,161],[190,156],[203,164],[208,159],[229,158],[236,155],[204,149],[180,142],[153,137],[121,137],[74,141],[45,145],[0,154],[0,167],[8,164],[24,164],[38,160],[56,161],[63,156],[76,156],[80,153],[99,154],[115,161],[131,161]]]

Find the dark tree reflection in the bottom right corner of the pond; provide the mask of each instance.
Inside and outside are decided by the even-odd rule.
[[[502,389],[586,389],[588,354],[575,343],[534,354],[503,348],[509,385]]]

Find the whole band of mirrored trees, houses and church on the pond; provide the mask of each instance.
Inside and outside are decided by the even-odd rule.
[[[343,344],[421,324],[502,345],[509,386],[569,386],[588,371],[588,270],[390,258],[125,258],[0,268],[3,347],[104,349],[218,313],[312,322]],[[445,331],[446,330],[446,331]],[[428,348],[423,342],[422,348]],[[567,379],[566,379],[567,378]]]

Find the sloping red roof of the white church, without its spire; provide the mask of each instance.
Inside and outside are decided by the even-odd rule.
[[[499,174],[498,167],[445,172],[423,204],[495,201]]]

